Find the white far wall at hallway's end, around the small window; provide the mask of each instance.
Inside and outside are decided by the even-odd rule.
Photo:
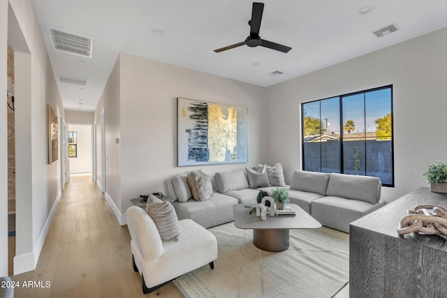
[[[91,173],[91,124],[68,124],[68,131],[75,131],[77,140],[77,157],[68,158],[70,174]]]

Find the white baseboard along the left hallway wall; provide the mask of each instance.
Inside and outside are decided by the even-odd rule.
[[[43,225],[41,235],[39,236],[37,243],[33,248],[33,253],[16,255],[14,257],[14,275],[36,269],[37,261],[39,260],[39,256],[41,255],[43,244],[45,244],[45,239],[47,237],[48,230],[50,230],[50,225],[54,218],[54,213],[56,212],[57,205],[61,200],[61,195],[62,192],[61,190],[59,190],[56,200],[54,201],[54,204],[51,208],[50,214],[48,214],[47,221],[45,221],[45,225]]]

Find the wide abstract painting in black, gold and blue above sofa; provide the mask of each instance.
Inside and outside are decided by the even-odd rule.
[[[247,163],[247,107],[177,98],[177,166]]]

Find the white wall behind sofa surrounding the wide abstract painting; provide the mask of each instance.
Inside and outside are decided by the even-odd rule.
[[[96,108],[95,121],[100,122],[104,107],[108,119],[106,193],[122,223],[132,198],[152,191],[167,193],[166,181],[179,172],[202,169],[214,174],[267,158],[265,88],[130,54],[120,54],[117,64]],[[177,97],[247,107],[249,162],[177,167]]]

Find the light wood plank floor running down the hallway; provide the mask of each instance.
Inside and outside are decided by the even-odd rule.
[[[91,176],[71,177],[36,269],[11,276],[43,288],[15,288],[14,297],[183,297],[173,283],[142,294],[130,241],[127,225],[119,225]]]

